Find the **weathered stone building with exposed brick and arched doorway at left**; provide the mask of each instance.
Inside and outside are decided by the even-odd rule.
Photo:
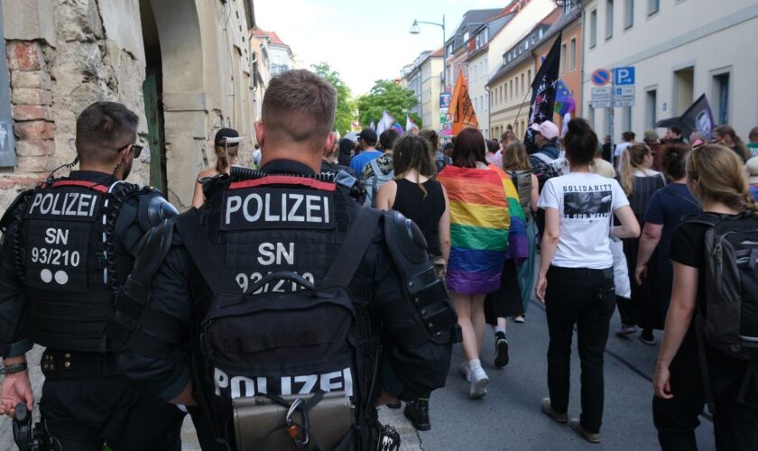
[[[195,174],[215,162],[219,128],[245,136],[243,160],[250,160],[251,0],[2,4],[0,211],[74,159],[76,117],[97,100],[122,102],[140,116],[149,152],[130,179],[165,189],[177,207],[189,207]]]

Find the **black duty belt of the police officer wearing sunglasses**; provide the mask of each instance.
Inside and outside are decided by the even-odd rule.
[[[47,349],[42,354],[42,374],[51,381],[118,377],[115,354],[78,353]]]

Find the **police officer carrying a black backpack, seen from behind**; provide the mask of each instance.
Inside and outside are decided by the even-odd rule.
[[[283,418],[286,406],[291,413],[300,402],[287,395],[319,389],[347,393],[355,406],[357,428],[344,449],[376,449],[378,440],[387,440],[382,438],[377,405],[415,400],[445,383],[452,343],[459,338],[457,317],[426,257],[421,231],[397,213],[359,207],[333,175],[317,173],[322,155],[334,148],[330,131],[336,101],[334,88],[308,70],[273,78],[263,99],[262,121],[255,125],[263,149],[261,171],[252,179],[238,179],[233,171],[231,177],[219,175],[208,182],[207,203],[175,218],[164,262],[154,276],[143,273],[139,278],[153,280],[145,308],[199,332],[171,339],[142,324],[130,338],[135,344],[150,339],[153,348],[171,351],[156,354],[143,351],[142,345],[127,345],[119,364],[129,379],[152,388],[163,400],[198,404],[190,414],[204,450],[277,449],[266,442],[275,430],[261,432],[258,441],[249,442],[255,445],[238,445],[235,430],[254,435],[253,429],[263,423],[235,426],[244,420],[244,412],[257,415],[254,408],[241,410],[240,398],[271,398],[285,406]],[[320,316],[326,310],[314,306],[329,299],[345,307],[340,291],[321,292],[328,281],[340,278],[347,278],[355,315],[335,322]],[[228,289],[230,284],[234,286]],[[242,296],[240,288],[248,293],[244,300],[230,299],[227,293],[221,301],[227,306],[278,306],[264,312],[272,324],[245,323],[241,318],[252,316],[237,312],[240,316],[215,329],[228,311],[217,310],[217,294],[225,288],[236,291],[235,296]],[[313,312],[310,321],[286,309],[297,303],[300,312]],[[217,319],[204,321],[211,311]],[[280,315],[292,315],[287,317],[292,320],[282,324]],[[294,368],[306,360],[314,364],[310,351],[304,350],[342,349],[344,340],[331,334],[343,333],[352,318],[357,358],[350,368],[335,368],[331,362],[315,362],[320,370]],[[193,344],[191,349],[186,343]],[[228,364],[233,359],[240,363]],[[319,402],[327,402],[324,396]],[[314,402],[306,402],[306,410]],[[311,415],[313,421],[317,416]],[[287,419],[282,427],[289,425],[287,432],[302,445],[302,424],[290,423],[289,415]],[[313,421],[305,432],[328,449]],[[280,438],[293,446],[290,438]]]

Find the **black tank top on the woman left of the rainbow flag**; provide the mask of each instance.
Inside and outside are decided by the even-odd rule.
[[[395,180],[397,194],[393,210],[399,211],[403,216],[412,219],[421,229],[427,240],[430,255],[439,255],[439,217],[445,212],[445,196],[442,194],[442,185],[437,180],[429,179],[423,182],[427,196],[418,185],[406,179]]]

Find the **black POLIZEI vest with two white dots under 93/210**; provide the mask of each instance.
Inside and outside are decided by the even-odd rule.
[[[114,252],[120,202],[108,191],[96,182],[56,179],[35,189],[24,207],[16,253],[34,343],[110,350],[103,326],[114,312],[113,278],[128,262]]]

